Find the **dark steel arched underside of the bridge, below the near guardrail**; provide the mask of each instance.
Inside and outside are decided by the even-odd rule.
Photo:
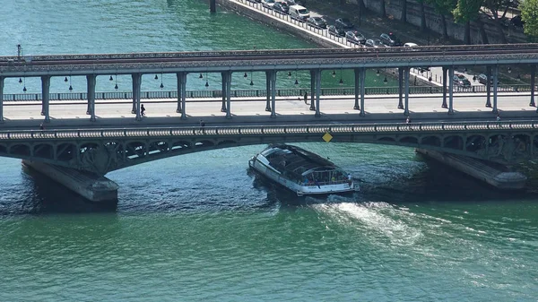
[[[409,130],[412,131],[412,128]],[[152,138],[104,137],[85,142],[41,140],[0,142],[0,156],[33,160],[75,168],[104,176],[120,168],[182,154],[237,146],[282,142],[323,142],[316,134],[229,135],[213,133],[212,128],[190,137]],[[514,165],[538,157],[538,135],[532,132],[488,134],[332,134],[331,142],[357,142],[442,151]],[[254,154],[253,154],[254,155]]]

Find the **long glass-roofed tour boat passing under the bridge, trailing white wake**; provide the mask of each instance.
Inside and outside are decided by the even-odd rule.
[[[248,166],[298,196],[359,191],[351,174],[328,159],[289,144],[269,145],[248,160]]]

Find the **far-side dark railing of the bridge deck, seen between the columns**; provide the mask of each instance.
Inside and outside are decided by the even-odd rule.
[[[291,88],[276,90],[277,97],[301,97],[305,91],[310,94],[308,88]],[[499,85],[498,92],[528,92],[531,91],[531,85],[528,84],[512,84]],[[410,94],[432,94],[442,93],[442,87],[434,86],[410,86]],[[486,86],[472,86],[470,88],[456,87],[454,93],[483,93],[486,92]],[[214,99],[221,98],[222,91],[187,91],[187,99]],[[232,98],[259,98],[266,97],[266,90],[235,90],[230,91]],[[338,96],[338,95],[354,95],[353,87],[338,87],[338,88],[322,88],[322,96]],[[383,94],[398,94],[398,87],[366,87],[365,94],[367,95],[383,95]],[[51,100],[87,100],[88,93],[86,92],[57,92],[50,93]],[[142,99],[178,99],[178,91],[142,91]],[[41,100],[41,93],[12,93],[4,94],[4,101],[35,101]],[[109,91],[96,92],[95,99],[133,99],[133,92]]]

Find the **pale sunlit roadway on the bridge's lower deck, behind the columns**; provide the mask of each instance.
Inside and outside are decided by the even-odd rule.
[[[524,93],[499,93],[499,114],[505,119],[534,119],[538,116],[536,108],[529,107],[529,96]],[[441,108],[440,95],[412,95],[409,100],[411,118],[418,121],[469,121],[494,120],[496,115],[491,108],[486,108],[485,96],[455,95],[455,114],[448,115],[446,108]],[[126,99],[96,100],[97,120],[91,122],[86,115],[87,104],[84,101],[51,101],[51,122],[48,129],[77,126],[177,126],[198,125],[204,119],[206,125],[244,125],[244,124],[294,124],[294,123],[376,123],[404,122],[404,110],[398,109],[398,98],[394,95],[368,96],[365,99],[366,116],[360,116],[359,110],[353,110],[354,99],[350,96],[332,96],[320,100],[321,117],[315,117],[302,98],[277,98],[276,118],[265,111],[265,99],[232,99],[232,117],[226,119],[221,112],[221,99],[197,99],[187,101],[187,118],[182,120],[176,113],[177,101],[174,99],[143,99],[146,116],[136,121],[131,114],[132,101]],[[43,121],[40,115],[40,102],[4,103],[4,124],[0,129],[28,128],[36,129]]]

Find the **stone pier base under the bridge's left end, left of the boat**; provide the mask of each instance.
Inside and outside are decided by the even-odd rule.
[[[38,161],[22,160],[22,164],[50,177],[91,202],[99,203],[117,200],[117,188],[119,186],[107,177],[100,177],[74,168],[64,168]]]

